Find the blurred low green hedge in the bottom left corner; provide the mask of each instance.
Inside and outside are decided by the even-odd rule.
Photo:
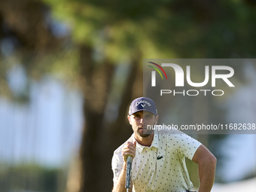
[[[56,192],[59,190],[61,169],[47,168],[36,164],[8,166],[1,169],[0,186],[2,191]]]

